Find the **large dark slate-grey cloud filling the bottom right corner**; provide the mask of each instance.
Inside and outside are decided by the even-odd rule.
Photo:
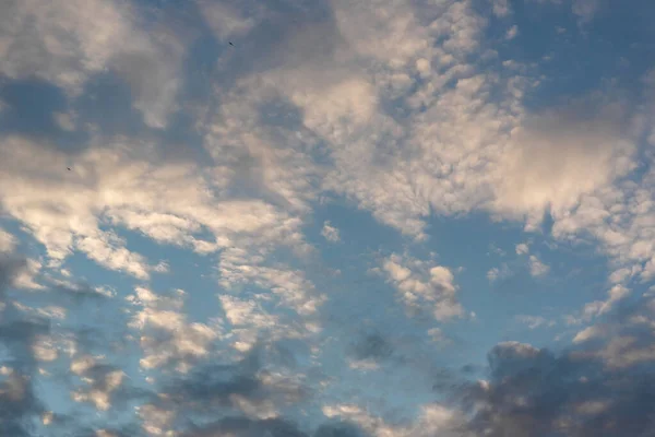
[[[451,386],[489,437],[655,436],[652,299],[619,308],[604,336],[559,355],[521,343],[489,354],[489,383]],[[646,329],[645,326],[648,326]]]

